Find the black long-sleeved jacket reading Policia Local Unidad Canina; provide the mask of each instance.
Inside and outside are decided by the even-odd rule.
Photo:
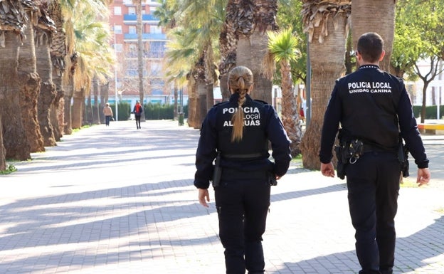
[[[396,151],[401,132],[418,167],[428,167],[403,80],[380,70],[377,65],[362,65],[334,85],[322,127],[319,153],[322,163],[332,159],[339,122],[347,132],[347,139],[361,139],[364,144],[387,151]]]

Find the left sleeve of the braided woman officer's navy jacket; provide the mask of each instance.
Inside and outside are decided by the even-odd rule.
[[[213,176],[213,160],[216,158],[216,107],[213,107],[203,120],[201,136],[196,151],[196,174],[194,186],[208,189]]]

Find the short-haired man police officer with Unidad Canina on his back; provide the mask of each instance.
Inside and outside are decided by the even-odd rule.
[[[334,177],[332,147],[340,122],[339,141],[354,155],[345,174],[351,223],[356,230],[356,255],[362,268],[359,274],[393,273],[393,219],[401,181],[396,153],[400,135],[416,160],[418,185],[430,179],[428,159],[403,80],[379,69],[384,54],[379,34],[360,36],[356,51],[359,69],[334,85],[324,115],[319,153],[322,174]]]

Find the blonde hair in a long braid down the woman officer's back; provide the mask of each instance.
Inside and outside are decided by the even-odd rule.
[[[253,86],[253,73],[247,67],[238,66],[233,68],[228,74],[228,88],[231,93],[238,93],[238,110],[231,117],[233,122],[233,132],[231,133],[231,142],[240,142],[243,137],[243,108],[245,95]]]

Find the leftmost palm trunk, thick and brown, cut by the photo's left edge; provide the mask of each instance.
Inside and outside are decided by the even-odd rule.
[[[31,148],[27,139],[23,138],[26,132],[21,119],[17,73],[19,48],[28,19],[21,1],[2,1],[0,14],[0,117],[3,146],[7,159],[26,160],[31,158]]]

